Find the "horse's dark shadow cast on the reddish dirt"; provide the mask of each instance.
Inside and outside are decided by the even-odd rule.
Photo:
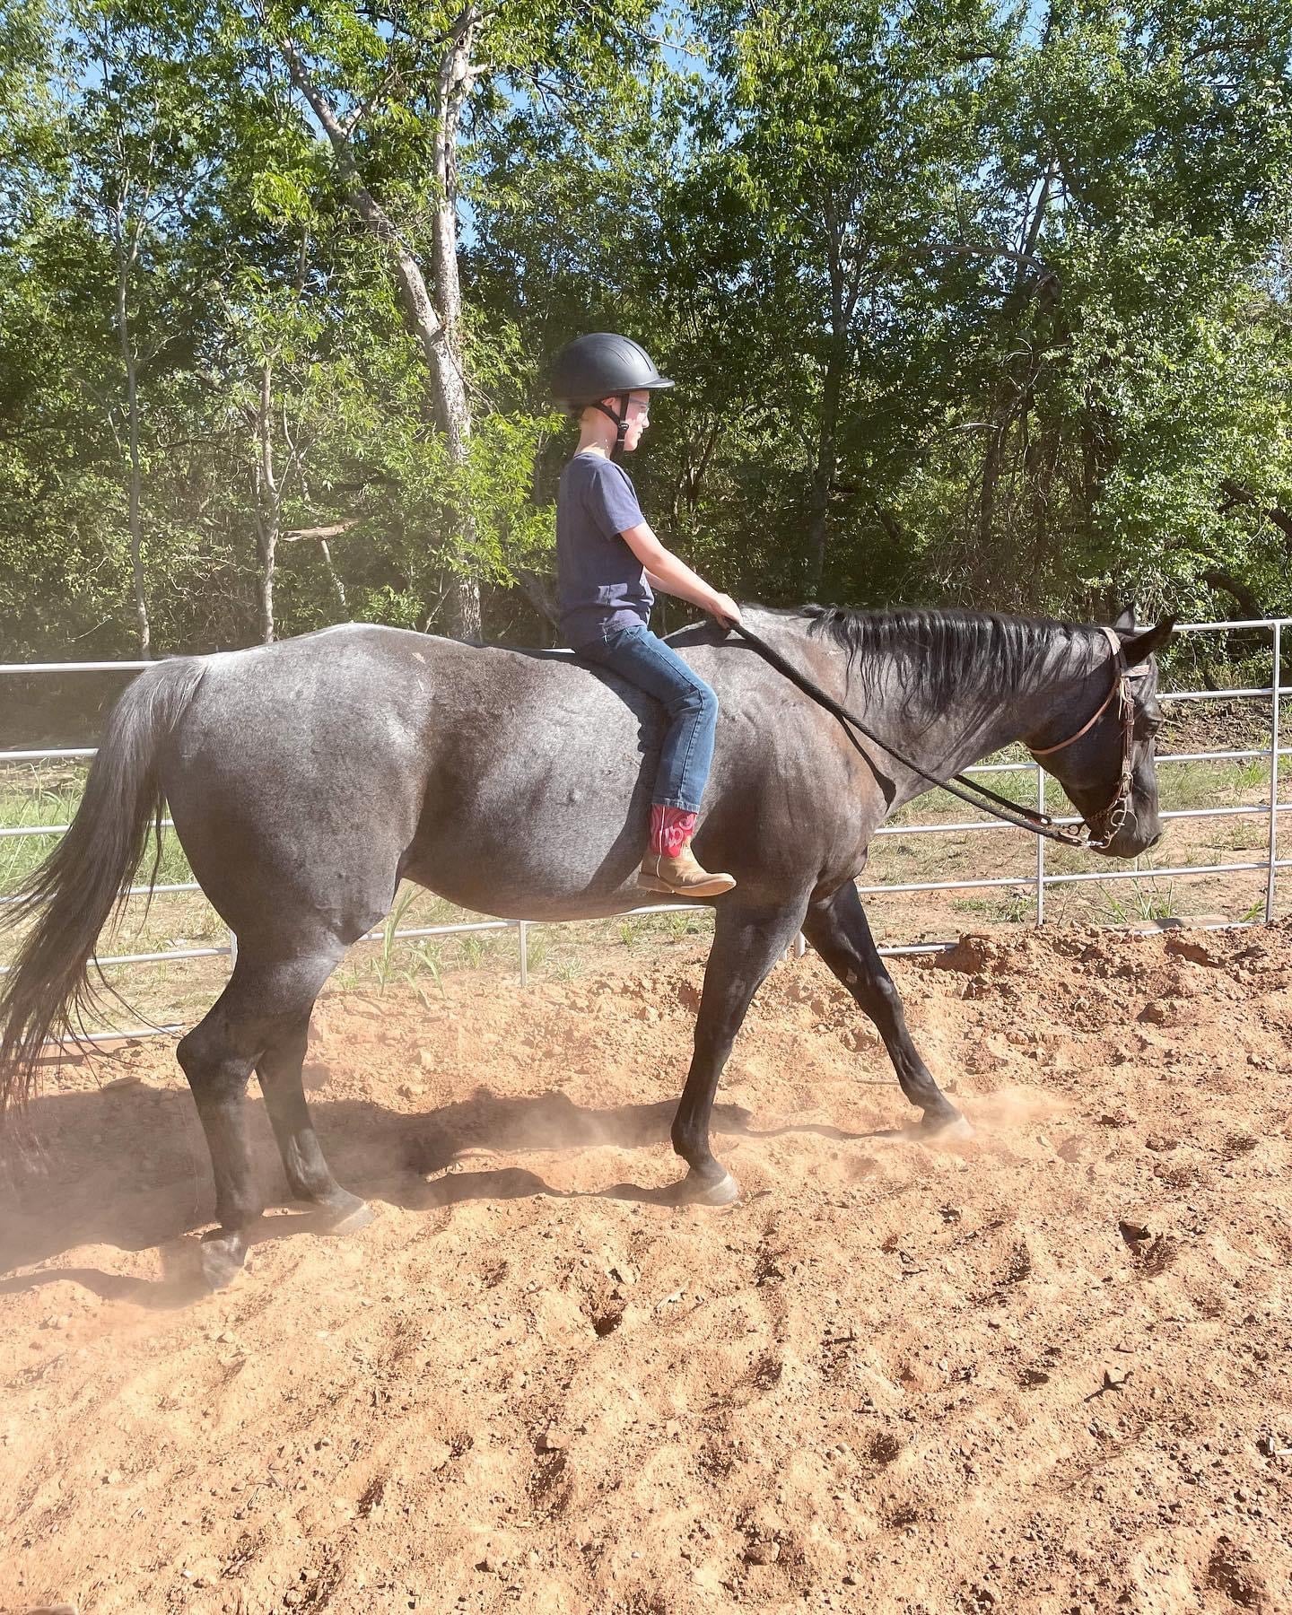
[[[667,1205],[672,1185],[631,1182],[564,1190],[523,1166],[476,1166],[481,1156],[648,1148],[669,1140],[675,1100],[614,1106],[575,1105],[565,1093],[504,1098],[486,1087],[422,1116],[371,1100],[313,1095],[318,1135],[338,1179],[355,1193],[405,1210],[528,1195],[638,1200]],[[47,1095],[27,1113],[34,1147],[8,1163],[0,1189],[0,1294],[76,1279],[99,1297],[182,1307],[205,1294],[195,1277],[194,1231],[212,1221],[210,1163],[189,1095],[137,1084],[121,1090]],[[714,1132],[745,1139],[812,1132],[858,1139],[837,1127],[803,1124],[761,1132],[738,1105],[714,1106]],[[268,1118],[252,1090],[249,1126],[258,1181],[276,1214],[257,1242],[321,1232],[308,1210],[281,1211],[283,1168]],[[95,1268],[16,1269],[57,1260],[82,1245],[158,1250],[163,1277],[141,1279]]]

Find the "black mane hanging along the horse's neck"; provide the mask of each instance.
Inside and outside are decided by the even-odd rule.
[[[862,683],[883,664],[896,675],[903,699],[935,711],[950,701],[980,696],[987,704],[1001,690],[1019,690],[1056,649],[1082,630],[1048,617],[1005,617],[998,612],[846,610],[804,606],[809,633],[848,651]]]

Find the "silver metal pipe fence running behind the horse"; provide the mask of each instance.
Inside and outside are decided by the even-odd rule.
[[[1082,882],[1095,883],[1111,883],[1119,880],[1142,880],[1147,877],[1171,877],[1171,879],[1189,879],[1198,875],[1224,875],[1239,872],[1265,870],[1265,922],[1268,924],[1274,917],[1274,896],[1276,896],[1276,880],[1279,870],[1292,869],[1292,856],[1279,858],[1279,816],[1284,812],[1292,812],[1292,801],[1279,799],[1279,762],[1282,757],[1292,756],[1292,746],[1284,746],[1281,743],[1281,722],[1279,722],[1279,703],[1284,698],[1292,698],[1292,685],[1282,683],[1282,646],[1284,646],[1284,630],[1292,630],[1292,617],[1263,617],[1248,619],[1242,622],[1193,622],[1181,623],[1177,633],[1229,633],[1235,628],[1245,630],[1266,630],[1271,633],[1271,665],[1273,677],[1269,685],[1239,688],[1239,690],[1176,690],[1176,691],[1160,691],[1158,701],[1168,703],[1190,703],[1190,701],[1269,701],[1269,745],[1258,748],[1231,748],[1216,751],[1182,751],[1182,753],[1164,753],[1158,756],[1158,764],[1184,764],[1184,762],[1221,762],[1221,761],[1255,761],[1268,759],[1269,762],[1269,791],[1265,803],[1260,806],[1224,806],[1224,808],[1179,808],[1169,809],[1161,814],[1163,819],[1224,819],[1224,817],[1268,817],[1269,830],[1266,840],[1266,856],[1255,861],[1231,861],[1231,862],[1213,862],[1213,864],[1179,864],[1169,867],[1132,867],[1132,869],[1098,869],[1098,870],[1080,870],[1080,872],[1055,872],[1047,869],[1047,841],[1043,837],[1037,837],[1037,861],[1035,872],[1030,875],[988,875],[969,880],[908,880],[908,882],[875,882],[874,885],[859,885],[858,891],[866,896],[877,896],[883,893],[912,893],[912,891],[971,891],[971,890],[992,890],[992,888],[1013,888],[1034,891],[1034,912],[1035,924],[1043,924],[1047,917],[1045,895],[1051,887],[1059,885],[1076,885]],[[0,677],[3,675],[40,675],[40,673],[71,673],[71,672],[141,672],[145,667],[152,667],[152,662],[16,662],[16,664],[0,664]],[[0,766],[10,762],[48,762],[48,761],[73,761],[73,759],[89,759],[95,754],[94,746],[44,746],[44,748],[26,748],[0,751]],[[966,774],[1035,774],[1037,777],[1037,806],[1045,811],[1047,785],[1048,775],[1045,769],[1035,761],[1019,761],[1019,762],[987,762],[977,764],[966,769]],[[1080,820],[1072,817],[1056,819],[1058,824],[1079,824]],[[171,827],[170,819],[162,820],[165,828]],[[61,835],[66,832],[65,824],[48,824],[48,825],[18,825],[0,828],[0,837],[29,837],[29,835]],[[914,825],[882,825],[875,835],[879,837],[921,837],[921,835],[948,835],[948,833],[977,833],[977,832],[1013,832],[1014,835],[1026,833],[1019,832],[1014,825],[1001,824],[998,819],[971,819],[961,822],[937,822],[937,824],[914,824]],[[173,882],[157,887],[131,887],[131,896],[142,896],[149,891],[153,893],[179,893],[179,891],[199,891],[197,882]],[[18,896],[0,896],[0,904],[11,904],[21,901]],[[627,909],[617,919],[628,919],[646,914],[677,914],[677,912],[694,912],[696,904],[691,903],[656,903],[644,908]],[[484,921],[464,921],[444,925],[413,925],[407,929],[396,929],[392,932],[373,930],[367,937],[360,938],[360,943],[371,942],[410,942],[425,937],[452,937],[465,935],[472,932],[499,932],[514,930],[517,933],[517,954],[518,954],[518,974],[520,985],[528,985],[530,975],[530,950],[528,935],[536,925],[552,925],[552,924],[578,924],[577,921],[525,921],[525,919],[484,919]],[[1235,922],[1244,924],[1244,922]],[[943,948],[953,946],[953,942],[919,942],[919,943],[895,943],[883,946],[879,951],[885,956],[895,954],[911,954],[911,953],[935,953]],[[801,954],[804,951],[803,937],[796,942],[796,951]],[[207,958],[231,958],[236,959],[237,942],[231,935],[229,943],[223,948],[171,948],[157,953],[123,953],[110,954],[100,958],[97,963],[100,966],[132,966],[132,964],[157,964],[168,959],[207,959]],[[6,966],[0,966],[0,974],[6,972]],[[86,1042],[103,1042],[120,1037],[160,1037],[173,1035],[182,1030],[182,1027],[142,1027],[128,1032],[94,1032],[86,1034],[82,1040]]]

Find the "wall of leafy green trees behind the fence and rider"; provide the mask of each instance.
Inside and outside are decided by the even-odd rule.
[[[1292,607],[1274,0],[252,3],[6,13],[8,654],[549,631],[607,326],[732,591]]]

